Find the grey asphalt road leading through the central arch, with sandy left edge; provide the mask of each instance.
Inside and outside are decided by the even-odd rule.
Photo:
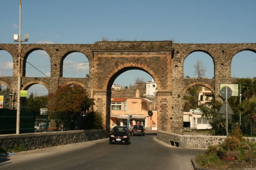
[[[6,170],[193,170],[191,158],[202,149],[172,147],[156,133],[132,136],[130,145],[110,145],[108,139],[62,145],[0,156]]]

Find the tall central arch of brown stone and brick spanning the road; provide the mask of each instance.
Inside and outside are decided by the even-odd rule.
[[[137,42],[127,43],[128,47],[135,47]],[[110,46],[111,43],[105,43]],[[94,53],[94,99],[96,108],[102,112],[106,131],[110,129],[110,100],[111,86],[114,80],[127,70],[142,70],[150,74],[158,86],[158,129],[170,130],[171,106],[171,58],[172,49],[159,49],[157,42],[153,49],[144,48],[120,50],[95,50]],[[111,46],[110,46],[111,48]],[[154,49],[158,48],[158,49]],[[182,125],[182,123],[180,123]]]

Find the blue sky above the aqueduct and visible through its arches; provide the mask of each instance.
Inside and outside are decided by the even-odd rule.
[[[54,44],[93,44],[103,37],[109,41],[256,43],[255,7],[255,0],[22,0],[22,37],[29,33],[28,43]],[[0,43],[14,43],[13,33],[19,33],[19,0],[3,0]],[[0,51],[0,76],[12,75],[12,60],[8,55]],[[200,52],[185,60],[184,76],[195,77],[191,63],[197,59],[206,66],[206,76],[212,78],[212,60]],[[63,76],[85,77],[87,61],[80,53],[70,54],[64,60]],[[28,62],[50,76],[50,59],[44,51],[31,53]],[[27,63],[26,69],[31,69],[27,76],[45,76],[29,67],[32,66]],[[238,53],[232,60],[231,74],[256,76],[256,54]],[[134,84],[134,75],[145,81],[152,79],[145,72],[131,70],[114,83],[129,86]]]

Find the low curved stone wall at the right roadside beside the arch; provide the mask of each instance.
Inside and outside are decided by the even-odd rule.
[[[205,135],[179,135],[166,131],[158,131],[158,140],[181,148],[202,148],[207,149],[209,145],[221,144],[226,136],[205,136]],[[256,138],[247,137],[251,142],[256,142]]]

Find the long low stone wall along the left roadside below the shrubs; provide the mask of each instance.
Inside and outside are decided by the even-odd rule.
[[[0,135],[0,147],[12,149],[22,144],[27,150],[93,141],[106,138],[104,129]]]

